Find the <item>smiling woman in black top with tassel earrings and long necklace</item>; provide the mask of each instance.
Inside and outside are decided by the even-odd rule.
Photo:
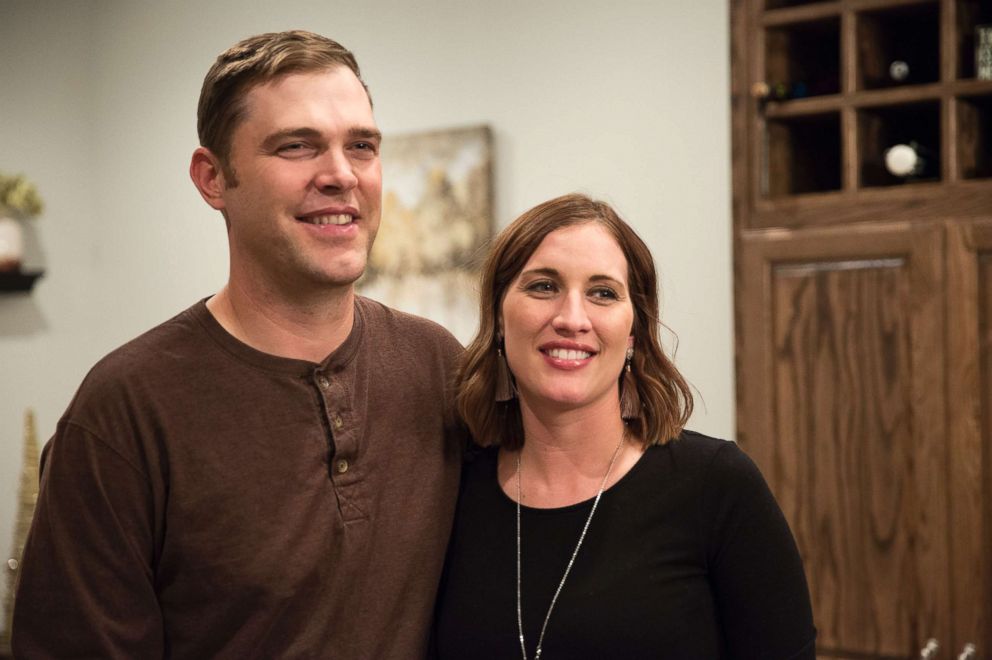
[[[683,431],[657,276],[608,205],[524,213],[485,264],[440,658],[813,658],[802,563],[754,464]]]

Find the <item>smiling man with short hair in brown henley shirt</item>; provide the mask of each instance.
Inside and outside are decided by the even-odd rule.
[[[422,656],[458,482],[460,351],[356,296],[380,134],[352,54],[221,54],[190,175],[230,277],[114,351],[46,448],[18,657]]]

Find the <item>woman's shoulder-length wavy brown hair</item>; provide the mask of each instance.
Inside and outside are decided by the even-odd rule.
[[[465,351],[456,381],[458,412],[482,446],[514,450],[524,443],[519,401],[495,400],[503,359],[497,352],[503,296],[548,234],[587,222],[603,226],[627,258],[634,308],[631,369],[642,405],[640,416],[625,420],[628,432],[645,445],[663,444],[682,432],[692,413],[689,385],[661,346],[658,275],[651,251],[609,204],[585,195],[564,195],[535,206],[510,223],[494,240],[482,268],[479,332]]]

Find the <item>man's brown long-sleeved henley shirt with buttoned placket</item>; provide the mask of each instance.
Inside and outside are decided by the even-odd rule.
[[[359,298],[322,364],[248,347],[203,301],[108,355],[45,450],[16,657],[422,657],[460,350]]]

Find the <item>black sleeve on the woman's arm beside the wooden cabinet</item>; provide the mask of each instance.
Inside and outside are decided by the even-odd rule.
[[[728,658],[815,658],[816,629],[802,559],[757,466],[721,447],[703,496],[706,560]]]

